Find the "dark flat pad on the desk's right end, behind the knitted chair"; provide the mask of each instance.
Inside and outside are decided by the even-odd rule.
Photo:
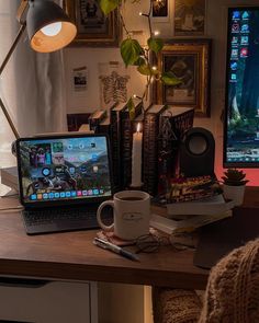
[[[233,217],[200,229],[193,264],[210,269],[234,249],[258,237],[258,212],[252,208],[235,208]]]

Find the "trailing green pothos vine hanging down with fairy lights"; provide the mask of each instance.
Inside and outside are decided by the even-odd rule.
[[[133,2],[137,1],[140,0],[133,0]],[[143,90],[143,94],[139,96],[142,101],[147,99],[148,89],[153,80],[162,82],[166,85],[177,85],[181,83],[181,81],[178,80],[171,71],[162,72],[150,64],[150,56],[155,56],[157,58],[157,55],[162,50],[164,47],[164,41],[159,37],[156,37],[151,27],[150,15],[153,1],[154,0],[149,0],[149,11],[147,13],[142,13],[142,15],[147,19],[149,30],[149,37],[147,38],[145,46],[142,46],[137,39],[132,37],[132,33],[124,23],[124,18],[122,14],[122,0],[100,0],[100,8],[104,14],[109,14],[110,12],[119,9],[122,26],[126,34],[125,39],[123,39],[120,45],[122,59],[126,67],[135,66],[137,71],[146,77],[146,85]],[[135,106],[132,97],[128,100],[127,106],[130,115],[134,117]]]

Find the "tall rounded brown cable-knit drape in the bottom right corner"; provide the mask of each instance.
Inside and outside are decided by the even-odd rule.
[[[199,323],[259,322],[259,240],[234,250],[210,275]]]

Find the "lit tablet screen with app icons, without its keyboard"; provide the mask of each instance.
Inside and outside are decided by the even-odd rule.
[[[22,138],[16,150],[23,205],[97,201],[112,196],[105,136]]]

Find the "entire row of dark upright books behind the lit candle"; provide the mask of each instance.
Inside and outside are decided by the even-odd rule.
[[[131,187],[133,134],[142,124],[143,189],[151,196],[168,191],[176,175],[178,149],[185,130],[193,125],[193,108],[151,104],[145,112],[139,99],[133,100],[132,117],[127,103],[113,104],[108,112],[97,111],[89,118],[91,129],[108,134],[111,141],[114,191]]]

